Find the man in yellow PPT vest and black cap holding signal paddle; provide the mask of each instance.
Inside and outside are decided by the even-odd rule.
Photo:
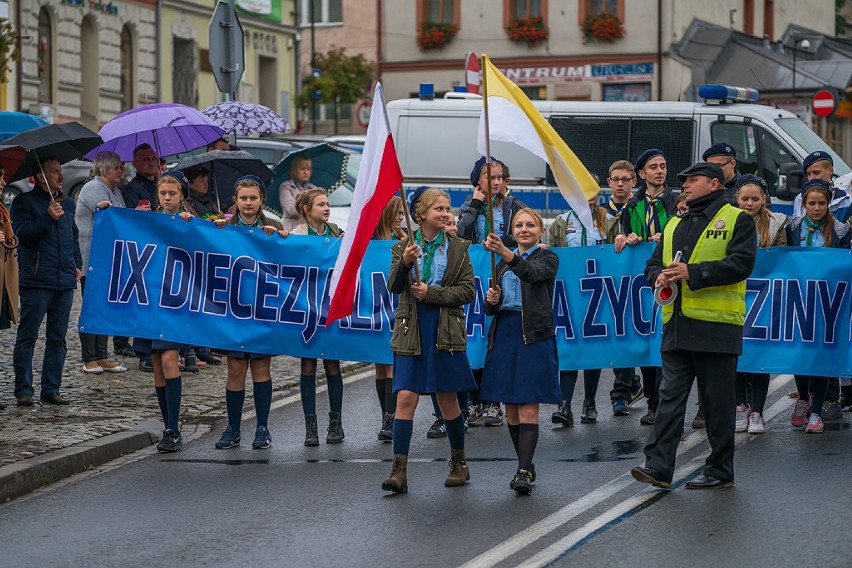
[[[745,211],[725,201],[722,169],[699,162],[678,174],[689,213],[669,220],[648,259],[645,276],[655,287],[678,286],[663,307],[663,380],[645,466],[631,474],[643,483],[671,487],[677,445],[693,378],[704,404],[710,456],[691,489],[734,484],[734,379],[742,353],[745,280],[754,268],[757,235]],[[676,251],[682,260],[674,262]]]

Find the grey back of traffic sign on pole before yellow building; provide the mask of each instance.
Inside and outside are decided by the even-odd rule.
[[[233,4],[224,0],[216,3],[210,18],[210,67],[219,90],[233,98],[245,71],[246,56],[240,19]]]

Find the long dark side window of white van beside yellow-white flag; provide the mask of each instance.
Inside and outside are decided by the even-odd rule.
[[[550,117],[554,130],[588,170],[603,181],[609,165],[659,148],[666,156],[666,185],[680,187],[677,173],[692,164],[695,121],[674,118],[612,118],[607,116]],[[556,185],[550,168],[548,185]]]

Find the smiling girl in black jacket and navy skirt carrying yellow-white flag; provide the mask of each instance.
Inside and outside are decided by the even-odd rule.
[[[544,222],[532,209],[512,221],[518,248],[509,250],[494,233],[485,248],[501,257],[497,281],[485,297],[485,313],[495,316],[488,332],[482,396],[506,404],[509,434],[518,470],[509,487],[522,495],[535,480],[539,404],[562,399],[556,382],[559,361],[553,323],[553,287],[559,257],[541,248]],[[576,374],[575,374],[576,380]]]

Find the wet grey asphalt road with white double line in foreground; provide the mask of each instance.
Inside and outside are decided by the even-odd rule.
[[[791,377],[776,378],[762,437],[738,435],[737,487],[689,491],[708,446],[688,426],[680,485],[659,492],[629,476],[649,429],[609,411],[597,424],[554,428],[542,412],[532,496],[508,488],[516,468],[505,427],[472,428],[471,482],[443,487],[446,439],[415,418],[409,493],[380,490],[390,444],[370,378],[346,386],[346,441],[305,448],[298,401],[274,410],[273,446],[215,450],[219,430],[172,455],[124,458],[0,506],[5,566],[849,566],[849,422],[823,435],[789,426]],[[582,393],[575,396],[575,414]],[[320,412],[325,394],[318,396]],[[687,412],[691,419],[693,408]],[[321,414],[320,430],[327,419]]]

